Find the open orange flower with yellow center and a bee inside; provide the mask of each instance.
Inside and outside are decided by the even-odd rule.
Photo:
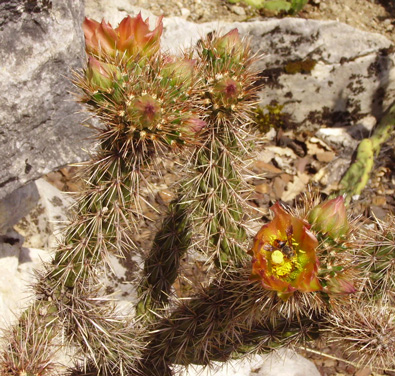
[[[318,241],[310,225],[286,212],[279,203],[271,207],[274,219],[255,236],[252,278],[287,300],[295,291],[322,290],[318,280]]]

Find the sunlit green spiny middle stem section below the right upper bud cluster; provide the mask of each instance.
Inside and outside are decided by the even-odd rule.
[[[248,188],[235,150],[214,132],[206,137],[194,155],[195,176],[183,185],[184,201],[189,203],[197,246],[207,255],[207,263],[236,267],[246,257],[248,205],[242,192]]]

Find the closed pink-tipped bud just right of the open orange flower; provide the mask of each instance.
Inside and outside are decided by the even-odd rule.
[[[343,196],[314,207],[308,214],[308,221],[315,231],[326,234],[332,239],[340,239],[347,235],[350,225]]]

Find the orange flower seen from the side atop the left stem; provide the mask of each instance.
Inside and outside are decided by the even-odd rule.
[[[160,17],[156,28],[150,31],[148,19],[144,21],[139,13],[134,18],[125,17],[116,29],[104,20],[99,23],[85,18],[82,29],[88,54],[115,57],[118,51],[127,58],[137,54],[149,57],[159,50],[163,24]]]

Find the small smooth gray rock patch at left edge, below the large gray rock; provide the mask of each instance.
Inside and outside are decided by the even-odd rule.
[[[0,235],[36,207],[39,194],[34,183],[26,184],[0,200]]]

